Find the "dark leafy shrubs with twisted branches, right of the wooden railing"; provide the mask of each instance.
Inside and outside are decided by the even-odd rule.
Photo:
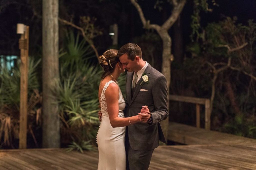
[[[187,48],[193,54],[185,62],[192,70],[185,68],[190,77],[187,84],[197,84],[190,87],[197,96],[213,99],[213,129],[256,138],[255,123],[250,121],[256,109],[252,103],[256,97],[256,23],[236,21],[227,17],[201,28],[202,37]]]

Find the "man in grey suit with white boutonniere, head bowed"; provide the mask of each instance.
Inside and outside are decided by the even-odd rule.
[[[145,122],[127,126],[125,149],[127,169],[148,169],[159,140],[166,143],[160,126],[169,116],[167,108],[167,81],[165,76],[142,59],[141,48],[135,43],[127,43],[119,49],[118,56],[126,77],[125,117],[135,116],[141,107],[150,114],[141,114]]]

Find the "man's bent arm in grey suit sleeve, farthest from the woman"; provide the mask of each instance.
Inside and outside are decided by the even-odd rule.
[[[167,80],[165,76],[160,76],[154,82],[153,89],[153,100],[155,105],[155,110],[151,112],[152,123],[155,124],[161,122],[169,116],[168,112],[168,90],[167,90]]]

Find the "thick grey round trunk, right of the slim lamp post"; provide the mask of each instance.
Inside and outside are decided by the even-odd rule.
[[[53,89],[59,80],[59,1],[44,0],[43,5],[43,147],[60,147],[60,121]]]

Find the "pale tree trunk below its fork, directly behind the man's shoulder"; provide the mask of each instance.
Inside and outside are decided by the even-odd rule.
[[[158,34],[163,40],[163,62],[162,62],[162,73],[167,79],[167,88],[168,88],[168,101],[169,101],[169,89],[171,81],[171,61],[173,61],[173,56],[171,54],[172,39],[168,34],[167,30],[159,30]],[[168,102],[169,104],[169,102]],[[169,109],[169,105],[168,105]],[[169,112],[170,113],[170,112]],[[169,117],[168,119],[161,122],[161,126],[164,132],[164,136],[168,137],[168,127],[169,127]],[[167,139],[166,139],[167,140]]]

